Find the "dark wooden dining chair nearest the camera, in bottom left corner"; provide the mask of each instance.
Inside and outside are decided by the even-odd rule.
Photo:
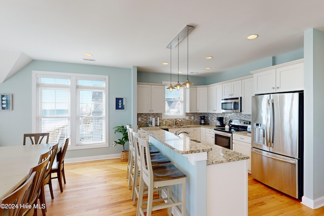
[[[14,192],[0,200],[1,204],[15,204],[18,208],[0,208],[0,215],[16,216],[20,211],[20,206],[26,205],[25,197],[29,197],[30,188],[35,177],[35,172],[27,178],[26,182]]]

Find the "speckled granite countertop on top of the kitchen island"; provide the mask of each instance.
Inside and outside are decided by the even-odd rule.
[[[196,127],[214,128],[213,125],[195,125]],[[209,127],[210,126],[210,127]],[[189,126],[188,126],[189,127]],[[190,126],[192,127],[192,126]],[[166,127],[168,128],[168,126]],[[170,128],[170,127],[169,127]],[[247,160],[250,157],[232,150],[213,145],[208,142],[196,140],[185,134],[175,135],[160,127],[142,127],[150,136],[154,137],[170,149],[179,154],[193,154],[207,152],[207,165],[227,163],[239,160]],[[193,141],[193,140],[196,141]],[[200,141],[200,142],[199,142]]]

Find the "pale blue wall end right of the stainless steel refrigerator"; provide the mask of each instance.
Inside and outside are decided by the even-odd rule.
[[[324,145],[319,107],[324,106],[324,32],[304,33],[304,197],[316,201],[324,197]],[[304,199],[303,197],[303,199]],[[322,203],[322,202],[320,202]]]

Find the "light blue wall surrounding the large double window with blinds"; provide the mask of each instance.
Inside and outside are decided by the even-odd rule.
[[[94,74],[109,76],[109,147],[101,149],[71,150],[67,158],[118,154],[122,147],[112,147],[113,127],[132,123],[132,78],[130,68],[94,66],[51,61],[34,60],[14,76],[0,84],[1,93],[13,94],[13,111],[0,112],[0,146],[22,145],[23,134],[31,131],[31,71],[57,71],[65,73]],[[51,72],[49,72],[50,74]],[[136,70],[135,70],[136,73]],[[115,97],[126,98],[126,111],[115,111]],[[129,101],[129,102],[127,102]],[[128,146],[127,146],[128,148]]]

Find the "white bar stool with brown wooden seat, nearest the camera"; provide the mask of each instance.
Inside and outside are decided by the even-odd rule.
[[[144,212],[146,212],[146,215],[150,216],[151,212],[154,210],[168,208],[168,213],[171,216],[171,207],[181,205],[181,215],[186,215],[186,175],[171,163],[152,166],[148,141],[140,138],[138,138],[137,141],[141,157],[141,177],[137,214],[144,215]],[[143,209],[144,184],[146,184],[148,187],[146,209]],[[171,186],[180,184],[181,201],[175,202],[171,198]],[[155,199],[154,201],[167,200],[167,203],[153,205],[154,189],[164,189],[167,192],[166,198]]]

